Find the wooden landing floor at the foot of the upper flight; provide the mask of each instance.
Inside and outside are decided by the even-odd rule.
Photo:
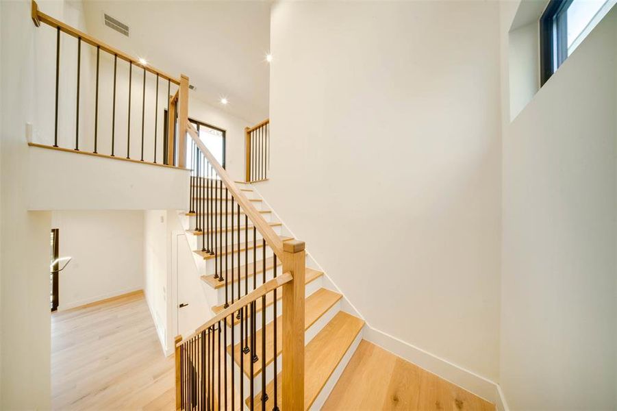
[[[322,410],[491,410],[492,403],[362,340]]]

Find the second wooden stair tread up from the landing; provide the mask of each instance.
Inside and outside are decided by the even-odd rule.
[[[282,294],[282,292],[280,293]],[[305,316],[304,316],[304,326],[305,329],[308,329],[311,325],[315,323],[318,319],[323,316],[334,304],[336,304],[342,295],[338,292],[334,292],[328,290],[327,288],[320,288],[312,295],[306,298],[306,306],[305,306]],[[283,317],[277,317],[277,356],[283,350]],[[262,329],[258,329],[255,332],[255,351],[259,360],[253,364],[253,375],[259,375],[262,371]],[[227,347],[227,353],[231,355],[231,345]],[[236,364],[240,365],[240,352],[242,350],[242,344],[238,343],[234,346],[234,358],[236,360]],[[270,362],[274,359],[274,321],[270,321],[270,323],[266,324],[266,366],[270,364]],[[247,377],[251,376],[250,364],[251,360],[251,352],[244,354],[244,374]]]

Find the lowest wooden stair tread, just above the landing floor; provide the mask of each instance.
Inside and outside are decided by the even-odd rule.
[[[364,326],[364,320],[347,312],[338,312],[333,319],[307,344],[304,351],[304,409],[308,410],[325,386],[353,340]],[[282,373],[277,375],[277,403],[282,404]],[[266,386],[266,410],[274,405],[274,381]],[[255,395],[255,403],[260,401],[262,393]],[[247,405],[250,397],[246,399]]]

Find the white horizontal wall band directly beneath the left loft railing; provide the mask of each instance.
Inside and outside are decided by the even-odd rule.
[[[29,210],[186,209],[189,171],[29,147]]]

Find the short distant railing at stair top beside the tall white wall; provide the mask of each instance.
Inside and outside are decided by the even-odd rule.
[[[268,179],[270,171],[270,119],[244,129],[247,183]]]

